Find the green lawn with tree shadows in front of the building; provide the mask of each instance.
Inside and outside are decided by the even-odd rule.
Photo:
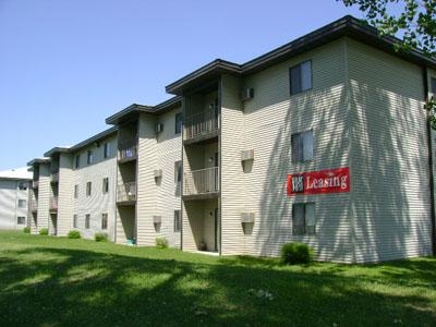
[[[0,326],[435,326],[436,258],[281,266],[0,232]]]

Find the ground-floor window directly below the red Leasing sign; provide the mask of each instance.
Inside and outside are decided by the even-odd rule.
[[[292,234],[315,234],[315,204],[299,203],[292,205]]]

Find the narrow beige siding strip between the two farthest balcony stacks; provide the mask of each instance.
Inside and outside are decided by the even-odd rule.
[[[49,227],[49,204],[50,204],[50,164],[39,165],[39,186],[38,186],[38,216],[36,233],[43,228]]]

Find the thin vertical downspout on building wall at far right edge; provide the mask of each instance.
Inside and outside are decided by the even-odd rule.
[[[428,74],[426,66],[423,66],[424,100],[428,101]],[[433,172],[433,148],[432,148],[432,124],[427,119],[427,144],[428,144],[428,168],[429,168],[429,197],[431,197],[431,220],[432,220],[432,252],[436,254],[436,210],[435,210],[435,182]]]

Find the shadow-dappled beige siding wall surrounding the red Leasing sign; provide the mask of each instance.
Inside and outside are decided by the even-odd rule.
[[[231,137],[226,135],[228,125],[223,114],[222,156],[233,162],[238,180],[242,173],[240,152],[254,149],[254,160],[242,173],[244,199],[239,198],[233,206],[234,211],[255,213],[253,230],[249,228],[249,233],[242,237],[244,253],[276,256],[283,243],[300,241],[313,246],[319,261],[352,261],[350,194],[289,197],[286,193],[288,173],[349,166],[344,52],[343,41],[337,40],[247,77],[244,86],[254,88],[254,98],[244,102],[243,141],[233,148],[225,141]],[[306,60],[312,61],[312,89],[290,96],[289,68]],[[291,135],[308,130],[314,133],[314,159],[292,164]],[[231,179],[229,182],[233,183]],[[226,199],[222,201],[225,217]],[[315,203],[316,235],[295,237],[292,204],[304,202]],[[232,219],[240,221],[233,215]],[[240,230],[241,223],[234,223],[234,232],[240,234]],[[234,246],[239,244],[240,240],[234,242]]]

